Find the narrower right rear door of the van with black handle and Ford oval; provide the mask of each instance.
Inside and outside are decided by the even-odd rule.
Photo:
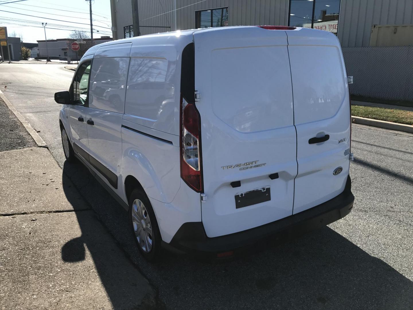
[[[297,128],[294,214],[342,193],[349,174],[350,103],[340,43],[327,31],[286,31]]]

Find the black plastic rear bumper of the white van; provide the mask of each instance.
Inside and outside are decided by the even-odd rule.
[[[172,238],[171,243],[164,243],[165,248],[184,253],[211,255],[234,251],[251,251],[265,247],[268,243],[277,243],[305,234],[308,231],[328,225],[345,217],[353,207],[354,196],[351,193],[351,179],[347,178],[344,191],[309,210],[279,219],[259,227],[234,234],[208,238],[202,222],[184,223]]]

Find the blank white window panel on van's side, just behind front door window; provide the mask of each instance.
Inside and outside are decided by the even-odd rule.
[[[95,58],[93,60],[89,107],[123,113],[128,67],[129,57]]]

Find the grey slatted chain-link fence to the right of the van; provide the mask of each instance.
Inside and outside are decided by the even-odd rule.
[[[413,46],[342,48],[352,95],[413,101]]]

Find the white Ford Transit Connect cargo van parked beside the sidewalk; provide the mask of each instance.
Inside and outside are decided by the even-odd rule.
[[[237,26],[106,42],[55,94],[77,157],[142,255],[216,258],[347,215],[351,122],[337,37]]]

